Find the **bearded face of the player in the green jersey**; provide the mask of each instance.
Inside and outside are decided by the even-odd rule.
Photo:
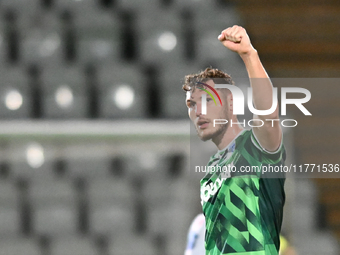
[[[214,82],[209,80],[206,82],[208,85],[214,87]],[[209,94],[205,91],[195,88],[193,92],[187,92],[187,107],[189,111],[189,117],[196,127],[196,131],[201,140],[207,141],[217,136],[223,136],[226,132],[228,125],[215,125],[214,119],[226,119],[229,122],[230,116],[228,116],[228,103],[224,93],[217,90],[220,95],[222,104],[217,99],[217,96],[207,88],[209,92],[215,97],[216,104]],[[202,94],[207,96],[207,114],[202,114]]]

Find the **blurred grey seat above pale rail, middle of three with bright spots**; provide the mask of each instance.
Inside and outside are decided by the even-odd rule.
[[[47,65],[42,70],[42,105],[45,118],[86,118],[88,87],[79,66]]]

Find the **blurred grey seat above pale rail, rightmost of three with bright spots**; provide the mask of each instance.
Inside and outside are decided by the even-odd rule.
[[[107,63],[98,67],[97,77],[99,117],[146,117],[148,89],[139,66]]]

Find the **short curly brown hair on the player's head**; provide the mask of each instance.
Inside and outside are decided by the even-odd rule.
[[[207,80],[213,80],[215,82],[216,80],[214,80],[214,78],[222,78],[223,83],[234,85],[234,81],[229,74],[219,69],[208,67],[199,73],[186,75],[182,89],[184,91],[191,91],[193,87],[197,86],[197,82]],[[216,83],[221,83],[221,81]]]

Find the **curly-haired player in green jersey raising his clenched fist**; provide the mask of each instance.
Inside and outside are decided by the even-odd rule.
[[[250,78],[255,109],[270,109],[273,86],[246,30],[240,26],[229,27],[221,32],[218,40],[242,58]],[[229,90],[217,89],[222,106],[213,102],[209,94],[216,83],[233,84],[233,81],[228,74],[207,68],[198,74],[187,75],[183,85],[187,91],[189,116],[198,136],[203,141],[212,140],[218,148],[208,166],[236,169],[226,172],[210,170],[201,180],[206,255],[278,254],[285,200],[284,175],[264,178],[261,171],[241,171],[246,166],[261,169],[262,166],[284,163],[279,122],[266,121],[279,119],[278,107],[269,115],[254,116],[258,123],[252,125],[257,127],[246,130],[235,124],[238,119],[233,114],[233,94]],[[202,112],[204,94],[206,112]],[[225,119],[228,123],[214,126],[214,119]]]

